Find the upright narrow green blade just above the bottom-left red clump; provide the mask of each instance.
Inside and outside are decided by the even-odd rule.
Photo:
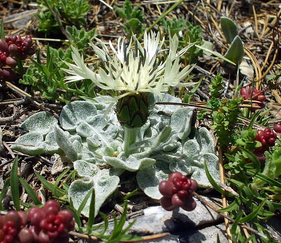
[[[14,164],[11,169],[10,176],[10,186],[11,186],[11,194],[14,202],[14,206],[16,210],[20,210],[20,189],[19,189],[19,178],[18,178],[18,165],[19,159],[18,156],[14,160]]]

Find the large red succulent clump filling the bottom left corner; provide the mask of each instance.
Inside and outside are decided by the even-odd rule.
[[[72,212],[60,210],[55,200],[49,200],[28,214],[13,210],[0,216],[0,243],[68,243],[68,232],[73,228]]]

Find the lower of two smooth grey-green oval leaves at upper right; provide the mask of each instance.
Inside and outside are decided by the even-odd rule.
[[[241,62],[244,54],[242,39],[237,35],[232,41],[231,46],[225,53],[224,57],[237,65]]]

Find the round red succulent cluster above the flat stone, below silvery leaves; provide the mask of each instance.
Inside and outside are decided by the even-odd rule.
[[[159,184],[159,191],[163,195],[161,206],[168,211],[178,207],[192,211],[196,208],[196,202],[192,198],[192,193],[196,189],[196,180],[189,179],[179,172],[173,172],[169,175],[169,180],[163,180]]]

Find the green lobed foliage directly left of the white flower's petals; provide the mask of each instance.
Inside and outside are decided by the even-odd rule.
[[[76,27],[69,27],[67,31],[71,36],[72,45],[76,46],[80,52],[84,52],[88,42],[97,35],[96,30],[86,33],[84,29],[78,31]],[[64,61],[73,62],[71,48],[63,51],[61,48],[54,49],[47,46],[46,50],[46,64],[41,63],[38,50],[37,62],[32,60],[33,64],[20,79],[20,83],[32,85],[33,90],[42,92],[43,97],[49,100],[58,99],[65,103],[70,102],[72,96],[95,97],[92,82],[89,80],[65,84],[66,74],[61,68],[68,67]]]

